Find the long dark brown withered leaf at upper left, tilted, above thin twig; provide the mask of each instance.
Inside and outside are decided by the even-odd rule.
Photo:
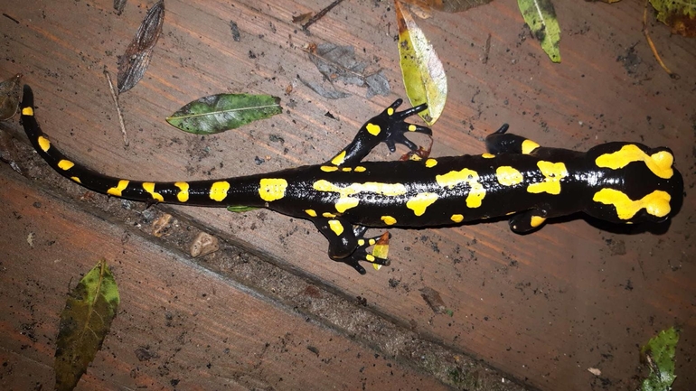
[[[165,22],[165,2],[158,1],[147,11],[126,52],[118,58],[118,93],[133,88],[145,75],[152,50]]]

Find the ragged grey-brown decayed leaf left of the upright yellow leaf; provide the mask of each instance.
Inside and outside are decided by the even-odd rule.
[[[387,96],[390,93],[389,80],[384,76],[384,73],[381,70],[368,70],[368,64],[355,57],[353,46],[322,43],[310,48],[309,59],[324,75],[324,79],[332,84],[338,80],[358,87],[367,86],[367,98],[372,98],[378,94]],[[316,88],[313,89],[316,91]],[[343,94],[345,93],[337,95],[340,96],[339,98],[343,98]],[[348,95],[345,94],[345,96]]]

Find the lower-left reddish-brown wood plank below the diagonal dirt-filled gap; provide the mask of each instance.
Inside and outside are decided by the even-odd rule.
[[[5,165],[0,198],[3,389],[52,387],[68,289],[101,257],[117,279],[121,305],[79,389],[447,389],[181,254],[36,191]]]

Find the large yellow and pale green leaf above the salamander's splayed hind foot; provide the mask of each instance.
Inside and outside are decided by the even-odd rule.
[[[419,116],[432,126],[442,114],[447,101],[447,75],[433,45],[413,21],[409,10],[394,0],[399,23],[401,75],[411,106],[428,103]]]

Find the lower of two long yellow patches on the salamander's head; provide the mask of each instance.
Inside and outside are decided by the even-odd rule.
[[[640,209],[645,209],[648,214],[663,218],[670,214],[670,200],[672,197],[666,191],[653,191],[640,200],[631,200],[623,191],[614,189],[602,189],[592,198],[595,202],[614,205],[619,219],[627,220],[634,217]]]

